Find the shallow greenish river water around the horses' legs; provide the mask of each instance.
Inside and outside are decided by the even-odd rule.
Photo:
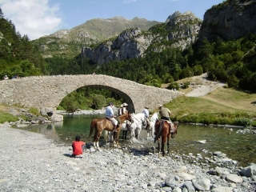
[[[55,141],[71,145],[75,136],[79,134],[84,142],[93,142],[93,135],[88,138],[90,132],[90,122],[93,118],[103,117],[102,115],[64,115],[63,122],[51,124],[31,125],[22,130],[29,130],[35,133],[46,134],[48,138]],[[201,149],[210,152],[222,151],[228,158],[238,161],[239,166],[248,166],[250,162],[256,163],[256,134],[252,130],[247,133],[237,133],[239,129],[233,131],[223,127],[191,126],[181,124],[178,126],[178,134],[175,138],[170,138],[170,151],[178,154],[202,154]],[[122,131],[119,137],[119,144],[125,146],[145,146],[151,148],[157,146],[153,139],[146,138],[146,130],[142,130],[139,143],[130,144],[129,136],[127,140],[122,139]],[[205,144],[197,141],[206,140]],[[100,139],[100,146],[106,144],[103,136]]]

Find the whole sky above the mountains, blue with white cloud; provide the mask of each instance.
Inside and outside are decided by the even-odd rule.
[[[146,18],[166,22],[169,15],[192,11],[203,19],[206,10],[223,0],[0,0],[4,18],[30,40],[71,30],[93,18]]]

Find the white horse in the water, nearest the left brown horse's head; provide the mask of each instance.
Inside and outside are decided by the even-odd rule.
[[[130,125],[130,141],[132,141],[133,138],[138,139],[138,135],[142,130],[142,124],[144,124],[146,121],[145,114],[142,113],[132,114],[131,118],[134,122],[132,122]]]

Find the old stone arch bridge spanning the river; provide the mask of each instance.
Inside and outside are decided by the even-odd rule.
[[[128,104],[128,110],[134,113],[140,113],[144,106],[157,108],[159,104],[170,102],[182,94],[102,74],[35,76],[0,81],[0,103],[36,107],[41,112],[54,111],[67,94],[82,86],[117,93]]]

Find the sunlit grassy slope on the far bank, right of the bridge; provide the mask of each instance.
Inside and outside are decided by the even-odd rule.
[[[221,87],[203,97],[175,98],[165,106],[179,122],[256,126],[256,94],[239,90]]]

